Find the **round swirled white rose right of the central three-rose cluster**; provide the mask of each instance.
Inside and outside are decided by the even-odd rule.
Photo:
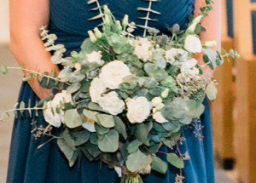
[[[151,103],[145,97],[137,97],[136,99],[128,100],[127,117],[131,123],[143,123],[152,109]]]

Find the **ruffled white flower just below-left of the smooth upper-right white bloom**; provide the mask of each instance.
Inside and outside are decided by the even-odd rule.
[[[179,57],[179,61],[186,61],[188,59],[188,52],[186,52],[184,49],[169,49],[166,51],[166,60],[170,64],[173,64],[175,62],[175,58]],[[175,63],[175,65],[178,64]]]

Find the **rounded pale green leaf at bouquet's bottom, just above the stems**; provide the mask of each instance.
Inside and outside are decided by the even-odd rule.
[[[146,156],[140,150],[131,153],[126,161],[127,169],[129,169],[131,172],[137,171],[138,169],[140,169],[141,163],[143,163],[143,159],[145,157]]]

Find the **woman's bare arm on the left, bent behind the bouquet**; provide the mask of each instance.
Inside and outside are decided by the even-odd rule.
[[[48,25],[49,0],[9,0],[10,44],[9,48],[17,62],[32,71],[59,71],[50,61],[40,39],[39,28]],[[24,72],[26,75],[27,73]],[[28,81],[40,99],[51,95],[49,89],[39,86],[38,79]]]

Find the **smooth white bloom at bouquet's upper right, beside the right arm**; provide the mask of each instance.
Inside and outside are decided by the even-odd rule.
[[[198,37],[194,36],[187,36],[185,38],[185,45],[184,48],[187,49],[189,52],[192,53],[201,53],[201,41]]]

